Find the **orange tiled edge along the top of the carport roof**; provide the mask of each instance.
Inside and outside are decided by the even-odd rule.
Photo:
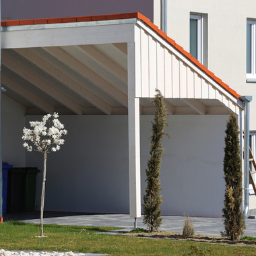
[[[7,20],[1,22],[1,26],[22,26],[22,25],[35,25],[35,24],[55,24],[55,23],[70,23],[70,22],[92,22],[92,21],[100,21],[100,20],[123,20],[123,19],[131,19],[137,18],[143,22],[145,22],[152,30],[156,31],[164,40],[169,42],[175,49],[177,49],[180,53],[182,53],[187,59],[192,61],[199,69],[205,72],[207,75],[212,77],[215,82],[220,84],[222,88],[227,90],[234,97],[239,98],[241,95],[237,94],[236,91],[232,90],[227,84],[222,82],[219,77],[216,77],[214,73],[207,69],[204,65],[199,63],[197,59],[192,57],[190,53],[185,51],[183,47],[177,44],[172,38],[169,38],[166,33],[158,28],[155,24],[150,22],[150,19],[146,18],[146,16],[142,15],[139,12],[133,13],[119,13],[119,14],[107,14],[107,15],[92,15],[92,16],[80,16],[80,17],[69,17],[69,18],[49,18],[49,19],[35,19],[35,20]]]

